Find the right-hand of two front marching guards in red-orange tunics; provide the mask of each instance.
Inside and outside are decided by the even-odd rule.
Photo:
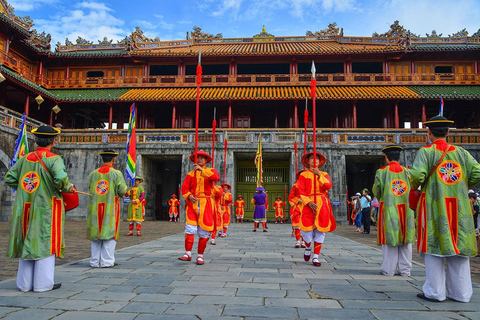
[[[310,245],[313,241],[312,263],[319,267],[321,263],[318,255],[325,240],[325,232],[332,232],[337,225],[328,199],[328,190],[332,188],[332,181],[328,173],[318,169],[325,165],[326,159],[318,152],[316,155],[316,161],[313,152],[303,155],[302,163],[308,170],[300,174],[298,187],[303,203],[300,212],[300,229],[306,245],[303,258],[305,261],[310,260]]]

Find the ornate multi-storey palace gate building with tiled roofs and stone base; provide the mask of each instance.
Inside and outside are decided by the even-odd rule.
[[[14,15],[0,0],[0,172],[8,170],[20,118],[27,126],[62,126],[56,152],[69,176],[87,190],[99,151],[120,152],[125,171],[129,110],[137,111],[137,173],[145,178],[147,219],[167,217],[167,201],[192,169],[195,139],[195,69],[201,51],[199,148],[211,153],[217,121],[215,167],[248,201],[255,190],[253,159],[261,134],[264,186],[270,202],[295,179],[304,143],[312,150],[309,83],[316,66],[317,150],[333,180],[330,199],[338,223],[347,222],[347,196],[371,188],[384,165],[380,149],[405,147],[411,166],[428,143],[421,123],[438,114],[455,121],[449,141],[480,159],[480,37],[413,37],[394,25],[378,37],[346,36],[332,24],[307,36],[250,38],[187,35],[185,40],[146,38],[137,28],[123,41],[66,40],[51,48],[50,35]],[[43,100],[43,101],[42,101]],[[308,137],[304,110],[308,105]],[[33,137],[29,136],[30,149]],[[228,140],[224,158],[224,140]],[[298,145],[295,158],[294,143]],[[221,178],[222,179],[222,178]],[[0,219],[11,215],[11,189],[0,182]],[[87,199],[67,215],[84,219]],[[247,218],[251,217],[247,207]],[[250,213],[248,213],[250,212]],[[270,212],[270,215],[272,212]],[[183,216],[182,216],[183,218]]]

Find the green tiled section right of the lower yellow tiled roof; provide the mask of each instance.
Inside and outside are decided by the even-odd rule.
[[[480,99],[480,86],[408,86],[425,99]]]

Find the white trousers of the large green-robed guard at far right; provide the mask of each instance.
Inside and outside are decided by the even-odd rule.
[[[443,264],[447,261],[447,270]],[[464,256],[437,257],[425,254],[427,281],[423,293],[427,298],[443,301],[446,297],[469,302],[473,294],[470,258]]]

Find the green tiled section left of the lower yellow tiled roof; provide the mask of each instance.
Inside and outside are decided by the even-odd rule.
[[[61,102],[102,102],[102,101],[119,101],[120,96],[130,89],[65,89],[65,90],[49,90],[49,93],[57,101]]]

